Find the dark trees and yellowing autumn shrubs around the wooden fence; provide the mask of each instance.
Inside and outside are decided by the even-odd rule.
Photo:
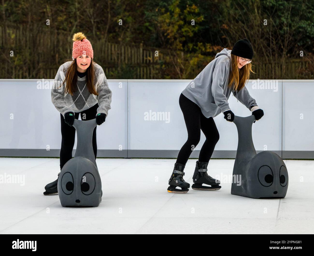
[[[154,77],[159,78],[193,79],[218,51],[231,49],[244,37],[253,44],[257,65],[260,59],[287,62],[286,58],[298,57],[300,51],[313,52],[311,0],[4,0],[0,12],[0,26],[7,31],[2,35],[5,43],[0,44],[4,59],[1,78],[11,78],[13,67],[33,78],[38,77],[39,66],[60,65],[71,57],[72,35],[79,31],[92,43],[143,43],[152,51],[162,49],[163,60],[153,70]],[[21,35],[14,29],[19,25],[25,25]],[[51,41],[51,52],[40,43],[45,35],[56,38]],[[24,47],[16,48],[16,40],[22,40]],[[9,57],[11,50],[13,58]],[[116,65],[108,78],[136,76],[136,68],[129,64],[101,64],[104,68]]]

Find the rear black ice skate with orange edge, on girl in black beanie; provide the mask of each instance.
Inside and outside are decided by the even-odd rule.
[[[188,188],[190,187],[190,184],[184,181],[183,175],[184,175],[184,167],[185,164],[181,163],[175,163],[175,167],[173,168],[173,172],[171,174],[171,177],[169,179],[169,187],[168,192],[169,193],[187,193]],[[176,189],[176,187],[179,187],[181,189]]]

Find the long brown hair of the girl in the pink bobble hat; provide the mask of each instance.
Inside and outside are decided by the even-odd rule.
[[[70,61],[70,60],[68,60]],[[89,67],[86,70],[86,84],[87,88],[90,93],[93,93],[95,95],[98,95],[98,93],[95,90],[94,84],[95,84],[95,71],[94,71],[94,65],[97,64],[93,60],[91,60]],[[77,82],[77,74],[76,74],[76,59],[72,62],[71,66],[68,67],[67,75],[65,76],[65,79],[62,83],[62,85],[67,82],[65,86],[65,93],[70,93],[73,96],[73,92],[75,92],[76,89],[76,82]]]

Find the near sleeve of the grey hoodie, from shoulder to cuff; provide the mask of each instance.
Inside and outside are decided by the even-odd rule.
[[[225,62],[216,64],[213,71],[212,94],[216,105],[221,109],[221,112],[229,109],[228,99],[224,94],[223,85],[227,78],[228,66]]]

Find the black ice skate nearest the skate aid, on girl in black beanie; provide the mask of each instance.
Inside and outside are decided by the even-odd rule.
[[[198,162],[196,161],[196,167],[193,175],[192,189],[195,190],[219,190],[220,181],[214,179],[207,174],[208,162]],[[202,184],[207,184],[210,186],[203,186]]]

